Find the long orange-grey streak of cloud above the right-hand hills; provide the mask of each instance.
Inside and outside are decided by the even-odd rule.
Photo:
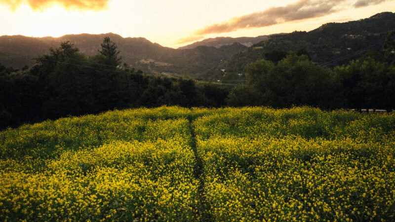
[[[196,35],[233,32],[245,28],[259,28],[284,22],[320,17],[338,11],[336,6],[345,0],[299,0],[283,7],[271,7],[265,11],[233,18],[219,24],[206,26]]]

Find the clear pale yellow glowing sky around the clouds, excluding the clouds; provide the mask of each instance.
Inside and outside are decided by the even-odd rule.
[[[232,18],[286,6],[298,0],[110,0],[108,9],[73,10],[58,5],[33,10],[23,4],[14,11],[0,5],[0,35],[60,37],[67,34],[116,33],[122,37],[145,37],[163,46],[179,47],[180,39],[208,37],[255,37],[295,30],[310,31],[327,22],[366,18],[382,11],[395,11],[395,0],[351,8],[355,0],[339,0],[341,10],[314,19],[291,21],[262,28],[239,29],[229,33],[194,36],[197,30]],[[348,6],[345,6],[345,5]],[[350,8],[347,8],[350,7]]]

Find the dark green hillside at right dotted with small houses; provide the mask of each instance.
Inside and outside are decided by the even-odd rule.
[[[223,61],[211,73],[243,71],[249,62],[264,59],[272,50],[297,51],[305,48],[314,62],[334,67],[359,58],[370,49],[382,50],[385,37],[395,30],[395,13],[383,12],[370,18],[345,23],[327,23],[310,32],[273,35]]]

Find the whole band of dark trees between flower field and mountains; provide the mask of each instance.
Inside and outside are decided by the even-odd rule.
[[[334,69],[315,64],[304,49],[295,53],[274,50],[248,64],[241,76],[246,83],[235,87],[145,75],[122,64],[117,45],[108,37],[90,57],[67,41],[38,57],[31,68],[0,65],[0,129],[69,115],[161,105],[392,110],[394,35],[391,32],[387,37],[385,50],[369,51]]]

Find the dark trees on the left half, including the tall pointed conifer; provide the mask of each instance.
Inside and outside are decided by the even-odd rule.
[[[225,106],[229,87],[148,76],[121,63],[106,37],[91,57],[70,41],[21,70],[0,65],[0,129],[113,109]]]

